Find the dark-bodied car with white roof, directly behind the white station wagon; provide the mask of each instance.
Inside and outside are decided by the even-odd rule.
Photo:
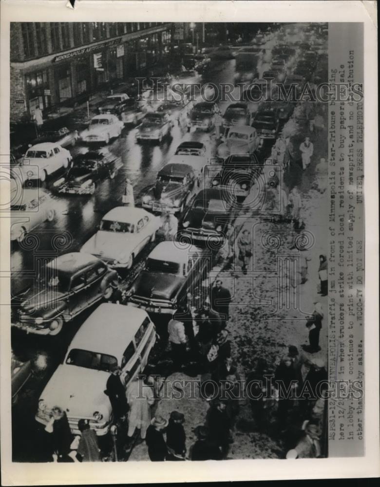
[[[180,248],[171,241],[161,242],[127,292],[128,303],[148,313],[173,314],[188,291],[206,278],[209,258],[207,251],[194,245]]]

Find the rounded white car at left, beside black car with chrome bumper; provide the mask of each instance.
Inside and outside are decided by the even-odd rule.
[[[39,179],[45,181],[47,176],[58,169],[68,168],[72,155],[59,144],[44,142],[30,147],[21,161],[20,171],[23,180]]]

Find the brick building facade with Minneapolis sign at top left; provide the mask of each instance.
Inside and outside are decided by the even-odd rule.
[[[12,22],[10,121],[149,73],[170,56],[172,29],[162,22]]]

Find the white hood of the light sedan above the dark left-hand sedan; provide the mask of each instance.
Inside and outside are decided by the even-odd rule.
[[[80,249],[81,252],[100,255],[109,259],[118,259],[121,254],[132,252],[136,234],[107,232],[98,230]],[[127,255],[128,257],[128,255]]]

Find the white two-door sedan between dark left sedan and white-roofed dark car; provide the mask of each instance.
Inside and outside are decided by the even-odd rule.
[[[111,267],[130,269],[133,260],[153,242],[159,217],[143,208],[117,206],[102,218],[99,230],[80,249],[93,254]]]

